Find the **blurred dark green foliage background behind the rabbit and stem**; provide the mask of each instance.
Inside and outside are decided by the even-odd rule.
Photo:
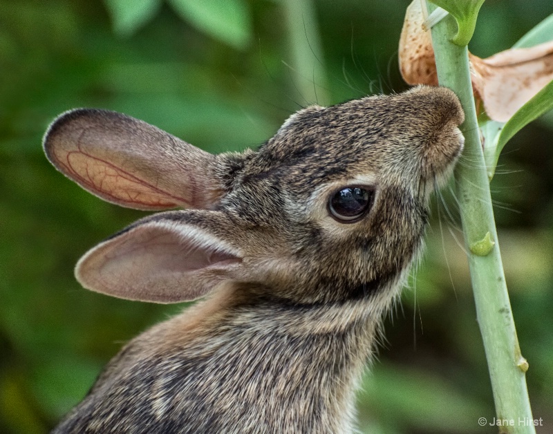
[[[106,204],[50,167],[40,147],[48,122],[96,106],[209,151],[255,147],[316,102],[297,86],[291,53],[317,38],[313,87],[326,75],[330,102],[406,88],[396,55],[409,1],[313,3],[319,35],[292,39],[277,0],[0,0],[1,433],[48,431],[124,341],[182,308],[76,283],[79,256],[144,214]],[[488,0],[470,49],[486,57],[509,48],[551,12],[541,0]],[[552,144],[545,115],[509,142],[492,183],[538,433],[553,432]],[[455,200],[443,197],[364,380],[363,431],[494,431],[477,423],[494,405]]]

